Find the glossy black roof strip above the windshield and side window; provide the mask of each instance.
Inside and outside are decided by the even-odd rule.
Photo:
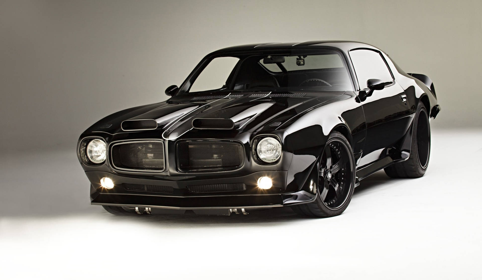
[[[276,49],[276,48],[287,48],[287,47],[306,47],[306,46],[323,46],[323,47],[335,47],[337,49],[343,51],[349,51],[351,49],[356,48],[369,48],[369,49],[377,49],[376,47],[365,44],[362,42],[356,41],[341,41],[341,40],[332,40],[332,41],[306,41],[306,42],[292,42],[292,43],[260,43],[260,44],[248,44],[248,45],[239,45],[228,47],[224,49],[220,49],[214,52],[229,52],[229,51],[250,51],[256,49]]]

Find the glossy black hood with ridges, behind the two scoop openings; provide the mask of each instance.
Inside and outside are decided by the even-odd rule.
[[[252,92],[175,96],[165,102],[126,109],[109,115],[85,132],[123,133],[125,120],[154,119],[164,139],[173,140],[193,129],[195,118],[229,118],[241,131],[276,129],[284,122],[318,104],[333,100],[344,91]]]

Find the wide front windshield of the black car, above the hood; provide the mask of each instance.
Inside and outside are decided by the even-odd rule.
[[[353,90],[338,51],[279,51],[217,56],[194,71],[180,94],[243,90]]]

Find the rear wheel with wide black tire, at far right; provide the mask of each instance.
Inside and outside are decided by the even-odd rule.
[[[427,108],[418,103],[412,132],[412,147],[407,160],[385,167],[390,178],[420,178],[427,171],[430,159],[430,122]]]

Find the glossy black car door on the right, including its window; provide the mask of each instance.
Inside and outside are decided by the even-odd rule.
[[[410,104],[403,88],[395,80],[383,54],[371,49],[349,51],[361,91],[369,92],[368,79],[385,82],[385,88],[375,90],[362,99],[366,121],[366,139],[359,167],[387,156],[388,149],[397,148],[410,126]]]

